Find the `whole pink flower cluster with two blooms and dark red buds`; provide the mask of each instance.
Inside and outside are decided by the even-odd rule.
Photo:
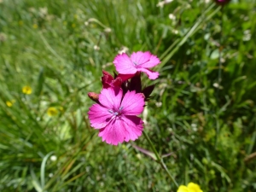
[[[135,141],[143,133],[143,120],[137,115],[143,113],[145,102],[154,85],[143,88],[141,72],[149,79],[157,79],[158,72],[149,68],[160,63],[157,56],[150,52],[138,51],[129,57],[126,54],[114,58],[118,74],[114,77],[103,71],[102,91],[100,94],[88,93],[96,104],[89,108],[90,125],[99,130],[102,141],[117,145]]]

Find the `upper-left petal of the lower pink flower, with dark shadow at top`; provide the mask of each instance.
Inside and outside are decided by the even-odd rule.
[[[123,96],[123,90],[119,87],[108,87],[103,89],[99,96],[99,102],[108,109],[119,109]]]

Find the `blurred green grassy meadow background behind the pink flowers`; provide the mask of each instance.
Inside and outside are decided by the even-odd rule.
[[[255,5],[0,0],[0,191],[177,190],[143,136],[116,147],[90,127],[87,93],[137,50],[162,61],[144,131],[177,183],[256,191]]]

